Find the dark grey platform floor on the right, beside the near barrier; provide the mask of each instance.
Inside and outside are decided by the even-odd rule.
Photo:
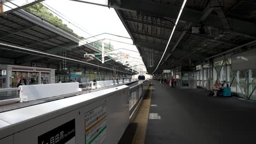
[[[255,143],[254,102],[209,97],[205,89],[152,84],[120,143]]]

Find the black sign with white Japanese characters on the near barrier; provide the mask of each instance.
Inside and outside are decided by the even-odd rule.
[[[75,119],[38,136],[38,144],[75,144]]]

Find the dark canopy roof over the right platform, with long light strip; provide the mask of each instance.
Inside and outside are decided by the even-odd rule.
[[[145,65],[148,53],[154,53],[155,63],[147,68],[149,73],[160,61],[182,3],[183,0],[112,0],[108,5],[117,11]],[[158,72],[188,66],[189,59],[194,65],[207,62],[207,58],[222,56],[236,47],[236,51],[251,49],[256,42],[255,9],[256,2],[252,0],[187,1]],[[200,31],[193,32],[193,27]]]

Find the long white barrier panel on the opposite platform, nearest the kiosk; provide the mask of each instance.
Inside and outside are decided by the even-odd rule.
[[[20,102],[77,93],[78,82],[20,86]]]

